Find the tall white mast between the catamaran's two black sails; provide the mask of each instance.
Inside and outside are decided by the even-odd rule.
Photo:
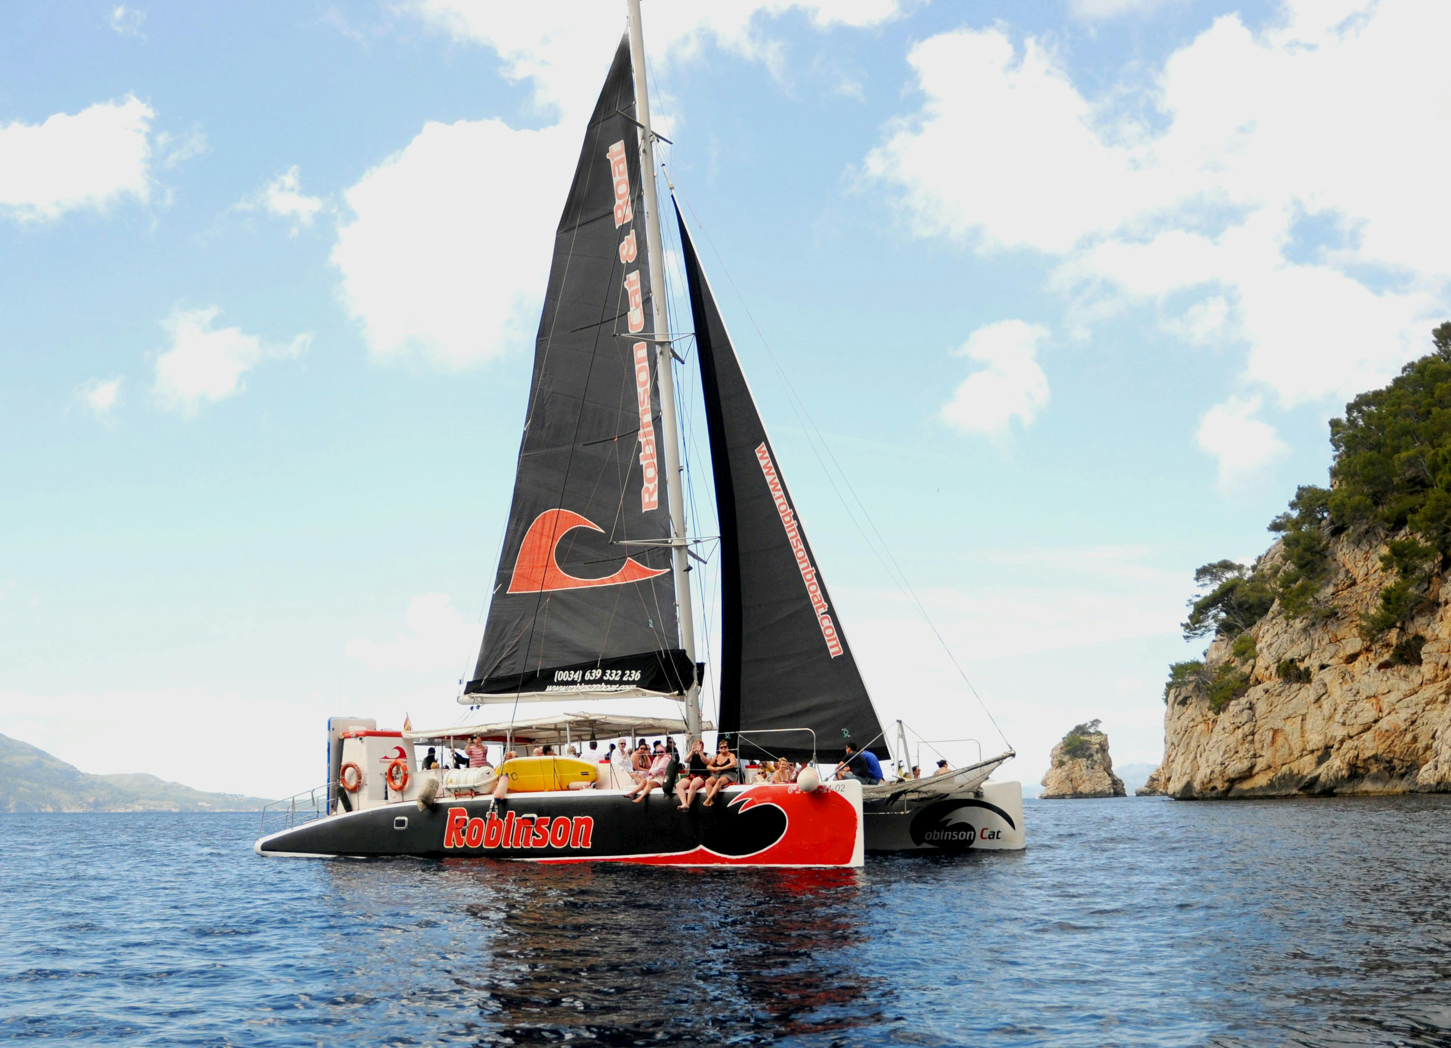
[[[650,90],[644,74],[644,32],[640,29],[640,0],[625,0],[630,12],[630,64],[636,80],[636,119],[640,122],[640,180],[644,183],[644,238],[650,253],[650,305],[654,311],[656,374],[660,379],[660,421],[665,428],[666,499],[670,507],[670,566],[675,570],[675,601],[681,620],[681,647],[695,668],[695,615],[691,610],[691,576],[685,539],[685,473],[681,469],[681,425],[675,412],[673,348],[667,341],[670,318],[665,303],[660,267],[665,248],[660,242],[660,202],[654,192],[654,136],[650,131]],[[686,748],[701,737],[701,685],[695,682],[685,695]]]

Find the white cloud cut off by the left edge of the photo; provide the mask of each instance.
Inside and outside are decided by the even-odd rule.
[[[44,123],[0,125],[0,213],[35,222],[125,196],[149,200],[152,119],[151,106],[128,96]]]

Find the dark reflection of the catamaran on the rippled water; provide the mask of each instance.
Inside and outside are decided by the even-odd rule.
[[[882,1015],[858,869],[445,865],[450,898],[474,896],[461,912],[480,949],[444,968],[489,1036],[718,1044]]]

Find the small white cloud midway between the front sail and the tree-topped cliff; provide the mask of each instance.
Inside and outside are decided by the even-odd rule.
[[[987,364],[953,390],[942,418],[966,433],[1001,437],[1016,418],[1032,425],[1048,404],[1048,376],[1037,366],[1037,344],[1048,328],[1023,321],[998,321],[974,331],[953,356]]]

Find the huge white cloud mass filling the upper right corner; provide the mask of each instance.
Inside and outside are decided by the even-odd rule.
[[[1448,303],[1448,32],[1445,4],[1294,0],[1258,33],[1217,19],[1103,102],[1040,41],[942,33],[865,170],[917,235],[1055,260],[1069,327],[1172,295],[1168,327],[1244,345],[1280,404],[1344,398],[1425,353]],[[1341,242],[1291,250],[1316,216]]]

